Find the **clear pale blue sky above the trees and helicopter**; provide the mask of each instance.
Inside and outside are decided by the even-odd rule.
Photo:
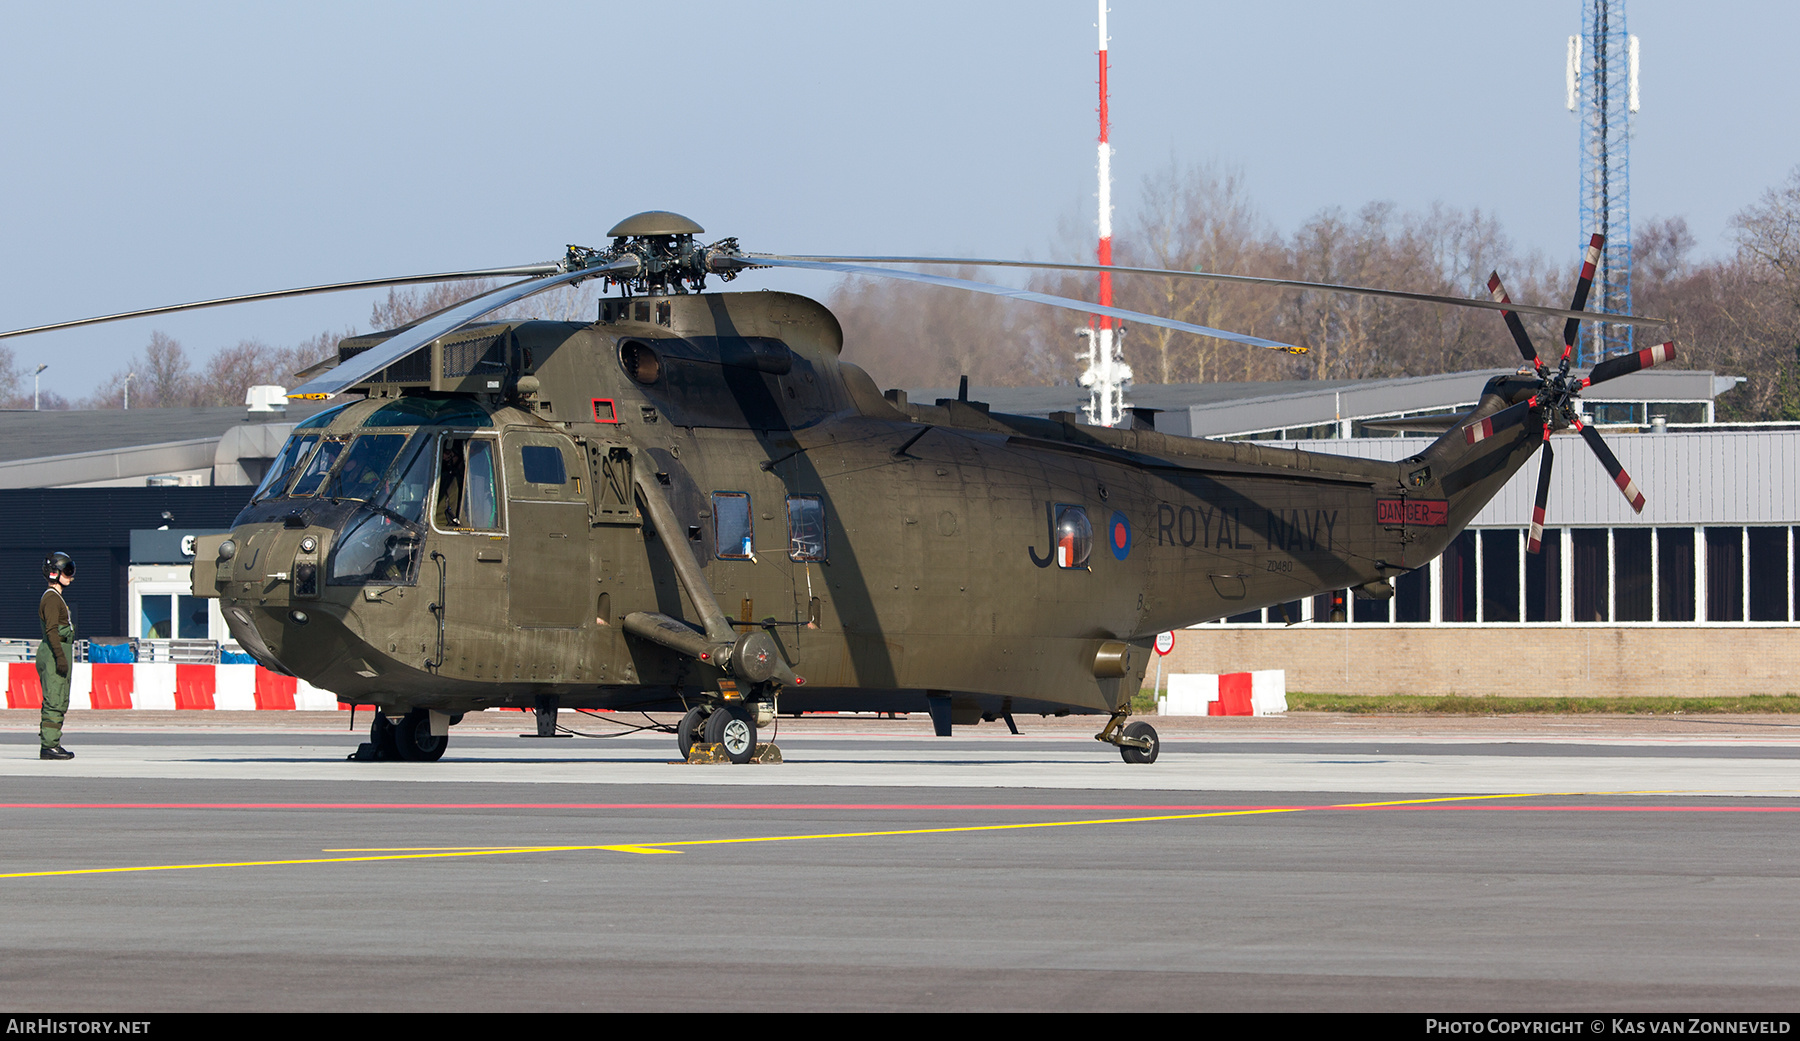
[[[747,249],[1049,256],[1093,220],[1094,5],[0,4],[0,328],[549,259],[675,209]],[[1496,214],[1573,258],[1577,0],[1116,0],[1116,196],[1244,173],[1328,205]],[[1633,211],[1705,252],[1800,164],[1800,5],[1638,0]],[[1120,214],[1121,220],[1127,214]],[[824,279],[740,286],[823,294]],[[86,394],[153,328],[191,353],[367,321],[369,294],[9,340]]]

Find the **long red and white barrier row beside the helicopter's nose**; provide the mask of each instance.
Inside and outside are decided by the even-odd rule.
[[[68,677],[68,708],[218,708],[218,710],[306,710],[347,708],[335,693],[304,679],[270,672],[261,665],[173,665],[173,663],[74,663]],[[38,708],[43,686],[38,666],[11,661],[5,666],[5,706]]]

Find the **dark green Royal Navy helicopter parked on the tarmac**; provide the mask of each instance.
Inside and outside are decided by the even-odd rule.
[[[1287,344],[1093,303],[880,267],[1031,265],[821,258],[702,245],[664,211],[556,263],[337,283],[128,312],[524,276],[400,330],[342,340],[293,398],[358,393],[301,421],[229,535],[198,540],[216,596],[263,666],[378,713],[365,753],[436,760],[468,711],[686,710],[684,756],[760,755],[781,711],[931,711],[954,722],[1094,713],[1125,762],[1156,634],[1327,591],[1393,596],[1543,448],[1573,427],[1633,508],[1643,495],[1577,412],[1582,389],[1667,362],[1669,344],[1571,371],[1600,240],[1570,308],[1215,279],[1498,310],[1525,366],[1399,463],[1183,438],[1073,412],[1026,418],[882,393],[839,355],[842,328],[783,292],[704,292],[751,268],[880,276]],[[605,279],[594,322],[488,321]],[[1564,317],[1546,362],[1519,313]],[[1660,324],[1607,315],[1606,321]],[[761,746],[767,755],[767,746]]]

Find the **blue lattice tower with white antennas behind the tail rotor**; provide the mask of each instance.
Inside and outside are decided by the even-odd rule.
[[[1588,310],[1631,313],[1631,115],[1638,110],[1638,40],[1625,32],[1625,0],[1582,0],[1580,36],[1570,36],[1568,106],[1580,126],[1582,243],[1598,232]],[[1584,322],[1575,362],[1633,349],[1631,326]]]

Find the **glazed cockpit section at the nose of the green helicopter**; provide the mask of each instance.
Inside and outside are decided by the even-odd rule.
[[[293,429],[234,526],[329,528],[328,585],[414,585],[434,522],[500,526],[495,441],[473,436],[491,427],[466,398],[351,402],[319,412]],[[306,594],[304,584],[295,573],[295,594]]]

